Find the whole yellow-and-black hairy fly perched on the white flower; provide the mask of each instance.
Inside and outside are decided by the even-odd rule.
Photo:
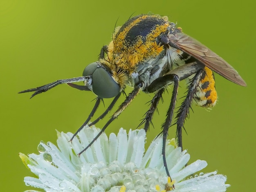
[[[238,85],[246,86],[245,81],[231,65],[209,48],[183,33],[182,29],[168,21],[167,17],[139,15],[130,18],[124,25],[115,29],[112,41],[102,47],[98,61],[85,67],[83,76],[57,80],[19,93],[34,92],[32,98],[63,83],[76,89],[94,92],[97,95],[96,103],[85,123],[74,134],[76,136],[90,121],[103,98],[114,99],[106,111],[90,125],[97,123],[110,112],[126,86],[133,87],[132,92],[126,96],[101,132],[79,153],[81,154],[126,109],[139,91],[155,93],[150,108],[140,124],[144,124],[144,129],[147,131],[164,90],[168,85],[173,85],[170,105],[161,132],[164,167],[167,175],[170,176],[165,156],[168,128],[172,124],[177,125],[177,143],[182,147],[182,127],[192,101],[202,107],[213,107],[216,104],[217,93],[213,71]],[[189,80],[188,91],[173,123],[179,82],[184,79]],[[79,81],[83,81],[84,85],[73,84]]]

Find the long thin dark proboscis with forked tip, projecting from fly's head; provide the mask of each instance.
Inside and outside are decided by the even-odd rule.
[[[47,92],[49,89],[52,89],[53,87],[56,87],[57,85],[64,84],[64,83],[80,82],[80,81],[85,81],[87,79],[88,79],[87,76],[75,77],[75,78],[70,78],[70,79],[60,79],[60,80],[56,80],[52,83],[49,83],[47,85],[43,85],[43,86],[36,87],[36,88],[33,88],[33,89],[26,89],[26,90],[18,92],[18,93],[34,92],[34,94],[32,94],[32,96],[30,97],[30,98],[32,98],[37,94]],[[88,89],[88,88],[83,89],[83,90],[90,91],[90,89]]]

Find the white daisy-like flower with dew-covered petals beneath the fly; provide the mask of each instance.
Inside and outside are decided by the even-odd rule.
[[[102,134],[86,152],[77,156],[98,133],[95,127],[84,128],[71,143],[68,141],[72,133],[57,132],[58,147],[41,142],[40,154],[20,153],[23,163],[35,174],[35,177],[26,176],[25,184],[46,192],[164,192],[172,186],[163,167],[162,137],[156,138],[144,154],[144,129],[130,130],[127,134],[121,128],[117,136],[112,133],[109,139]],[[216,171],[190,176],[207,163],[197,160],[185,167],[190,156],[174,143],[171,140],[166,145],[168,168],[175,185],[173,191],[226,191],[227,178]]]

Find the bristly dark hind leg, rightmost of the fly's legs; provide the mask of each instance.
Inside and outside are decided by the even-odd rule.
[[[198,83],[200,81],[201,76],[202,76],[202,69],[200,69],[191,80],[191,83],[188,87],[186,98],[182,102],[182,105],[177,112],[177,116],[176,116],[177,121],[175,123],[177,124],[176,137],[177,137],[178,146],[181,148],[182,148],[182,127],[184,127],[185,119],[189,116],[189,108],[191,107],[193,96],[197,90]]]

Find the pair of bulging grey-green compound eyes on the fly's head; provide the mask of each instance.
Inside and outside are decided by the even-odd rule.
[[[100,98],[112,98],[119,94],[120,87],[111,74],[97,63],[85,67],[83,76],[92,76],[92,91]]]

